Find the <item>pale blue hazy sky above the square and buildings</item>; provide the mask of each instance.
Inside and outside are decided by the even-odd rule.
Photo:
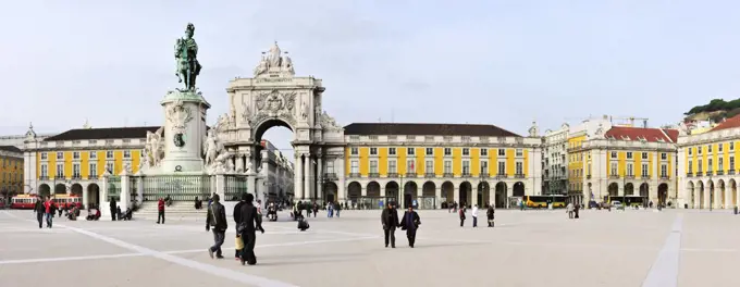
[[[157,125],[188,22],[199,87],[227,111],[278,40],[322,78],[340,124],[494,124],[526,134],[589,115],[678,121],[740,95],[738,1],[0,1],[0,134]],[[281,148],[291,133],[268,137]]]

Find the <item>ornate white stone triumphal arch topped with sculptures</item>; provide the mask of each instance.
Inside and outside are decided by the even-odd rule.
[[[249,176],[249,192],[260,197],[261,186],[269,184],[258,167],[262,135],[283,126],[293,132],[294,201],[346,198],[344,129],[323,111],[324,90],[319,78],[295,76],[293,60],[278,42],[262,53],[252,77],[230,82],[230,112],[213,128],[233,160],[230,172]]]

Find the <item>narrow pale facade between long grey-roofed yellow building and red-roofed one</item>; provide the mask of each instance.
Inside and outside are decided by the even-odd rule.
[[[570,126],[563,124],[559,129],[545,130],[544,155],[542,161],[544,195],[568,192],[568,135]]]

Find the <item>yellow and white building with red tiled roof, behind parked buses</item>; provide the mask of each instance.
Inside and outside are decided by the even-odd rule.
[[[574,138],[576,188],[580,202],[622,198],[631,204],[676,204],[676,141],[678,130],[613,126],[585,139]],[[576,144],[580,142],[580,145]]]

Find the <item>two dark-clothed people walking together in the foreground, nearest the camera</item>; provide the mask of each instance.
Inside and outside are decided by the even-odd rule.
[[[250,194],[242,195],[242,200],[234,205],[234,222],[236,223],[236,251],[234,257],[242,262],[242,265],[257,264],[255,255],[256,233],[259,230],[264,234],[262,228],[262,216],[257,207],[252,204],[255,197]],[[213,195],[211,204],[206,214],[206,230],[213,232],[213,246],[208,248],[208,254],[213,259],[223,259],[221,246],[226,236],[229,223],[226,210],[220,202],[219,195]]]

